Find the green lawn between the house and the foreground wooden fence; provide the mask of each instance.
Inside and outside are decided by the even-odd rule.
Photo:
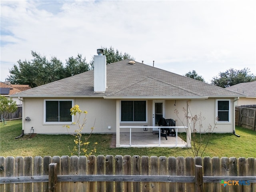
[[[37,134],[32,138],[24,135],[15,139],[21,134],[21,130],[21,120],[8,121],[5,126],[1,123],[0,156],[70,156],[68,146],[73,148],[74,136]],[[256,158],[256,132],[237,127],[236,134],[240,137],[233,134],[212,134],[203,156]],[[191,149],[186,148],[110,148],[111,139],[111,134],[93,134],[90,142],[98,142],[94,155],[192,156]]]

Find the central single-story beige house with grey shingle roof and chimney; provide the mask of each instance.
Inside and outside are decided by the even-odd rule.
[[[129,132],[120,126],[155,126],[161,116],[184,126],[186,120],[177,120],[174,113],[178,110],[184,119],[183,108],[189,108],[192,115],[201,112],[206,118],[204,128],[213,126],[218,116],[214,132],[233,133],[234,102],[245,95],[128,59],[106,66],[106,57],[99,50],[94,70],[15,96],[23,101],[24,134],[30,134],[31,127],[38,134],[68,133],[63,125],[74,122],[70,108],[78,104],[88,112],[84,132],[94,126],[94,133],[115,133],[119,147],[120,132]],[[76,129],[70,126],[71,132]],[[144,130],[152,132],[154,128],[133,131]]]

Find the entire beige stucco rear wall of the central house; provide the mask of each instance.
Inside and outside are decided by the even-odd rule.
[[[23,98],[23,124],[25,134],[30,133],[31,127],[38,134],[67,134],[68,131],[63,127],[64,124],[46,124],[44,123],[44,99],[47,98]],[[50,99],[50,98],[48,98]],[[56,98],[64,99],[64,98]],[[86,118],[86,127],[84,132],[90,132],[92,126],[95,127],[94,133],[116,133],[116,100],[108,100],[103,98],[68,98],[74,100],[74,105],[78,104],[81,110],[88,112]],[[147,122],[143,123],[120,123],[121,126],[137,125],[152,126],[152,100],[147,100]],[[176,126],[187,126],[184,118],[183,108],[187,109],[187,100],[165,100],[165,116],[164,118],[172,118],[176,120]],[[202,113],[205,117],[203,121],[203,129],[208,125],[215,124],[216,118],[216,99],[207,100],[189,100],[189,109],[192,116]],[[233,132],[233,100],[230,100],[230,122],[217,123],[214,132]],[[178,116],[175,111],[178,111]],[[189,114],[189,116],[191,116]],[[26,117],[30,117],[31,121],[26,121]],[[96,118],[96,119],[95,119]],[[180,118],[180,119],[179,119]],[[95,121],[95,125],[94,125]],[[110,127],[110,129],[108,129]],[[71,125],[70,132],[74,132],[77,126]],[[132,132],[143,131],[142,129],[133,129]],[[152,129],[148,129],[151,132]],[[182,131],[182,130],[180,130]],[[183,130],[184,131],[184,130]],[[122,129],[120,132],[129,132],[129,129]]]

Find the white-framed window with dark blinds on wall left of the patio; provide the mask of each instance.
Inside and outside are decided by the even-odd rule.
[[[72,100],[45,100],[45,122],[72,122]]]

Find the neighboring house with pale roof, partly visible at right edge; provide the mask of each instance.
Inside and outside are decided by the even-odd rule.
[[[239,83],[226,89],[246,95],[236,102],[236,106],[256,105],[256,81]]]

